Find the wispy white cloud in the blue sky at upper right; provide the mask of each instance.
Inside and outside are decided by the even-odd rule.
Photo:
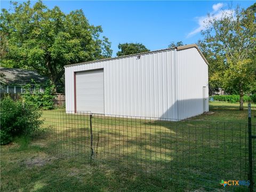
[[[221,10],[221,8],[223,7],[223,3],[217,3],[212,5],[212,9],[213,11],[210,13],[210,17],[208,17],[208,15],[202,16],[202,17],[197,17],[195,18],[197,20],[198,23],[198,27],[196,29],[194,29],[193,31],[191,31],[188,35],[187,38],[200,33],[202,30],[205,30],[209,27],[209,22],[212,19],[217,19],[220,20],[223,15],[233,15],[234,14],[234,10],[230,10],[230,9],[226,9],[226,10]]]

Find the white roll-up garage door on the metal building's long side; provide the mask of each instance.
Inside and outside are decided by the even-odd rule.
[[[104,114],[103,69],[76,73],[76,110]]]

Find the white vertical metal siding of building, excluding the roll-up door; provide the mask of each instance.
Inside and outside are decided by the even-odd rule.
[[[208,92],[208,69],[194,48],[66,67],[67,111],[74,110],[74,72],[99,68],[104,69],[106,114],[177,119],[203,113],[199,99],[203,85]]]

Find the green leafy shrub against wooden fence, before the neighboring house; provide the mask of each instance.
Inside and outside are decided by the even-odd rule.
[[[30,92],[31,85],[23,86],[23,90],[25,93],[22,95],[22,98],[26,101],[35,105],[38,108],[42,109],[53,109],[54,108],[54,95],[52,95],[52,90],[54,89],[54,85],[50,85],[48,82],[45,86],[44,92],[40,92],[40,85],[35,85],[35,91],[33,93]]]

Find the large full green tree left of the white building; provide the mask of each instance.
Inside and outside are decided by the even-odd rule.
[[[65,14],[42,1],[11,5],[1,13],[1,66],[34,69],[56,85],[63,66],[111,57],[101,26],[90,25],[82,10]]]

